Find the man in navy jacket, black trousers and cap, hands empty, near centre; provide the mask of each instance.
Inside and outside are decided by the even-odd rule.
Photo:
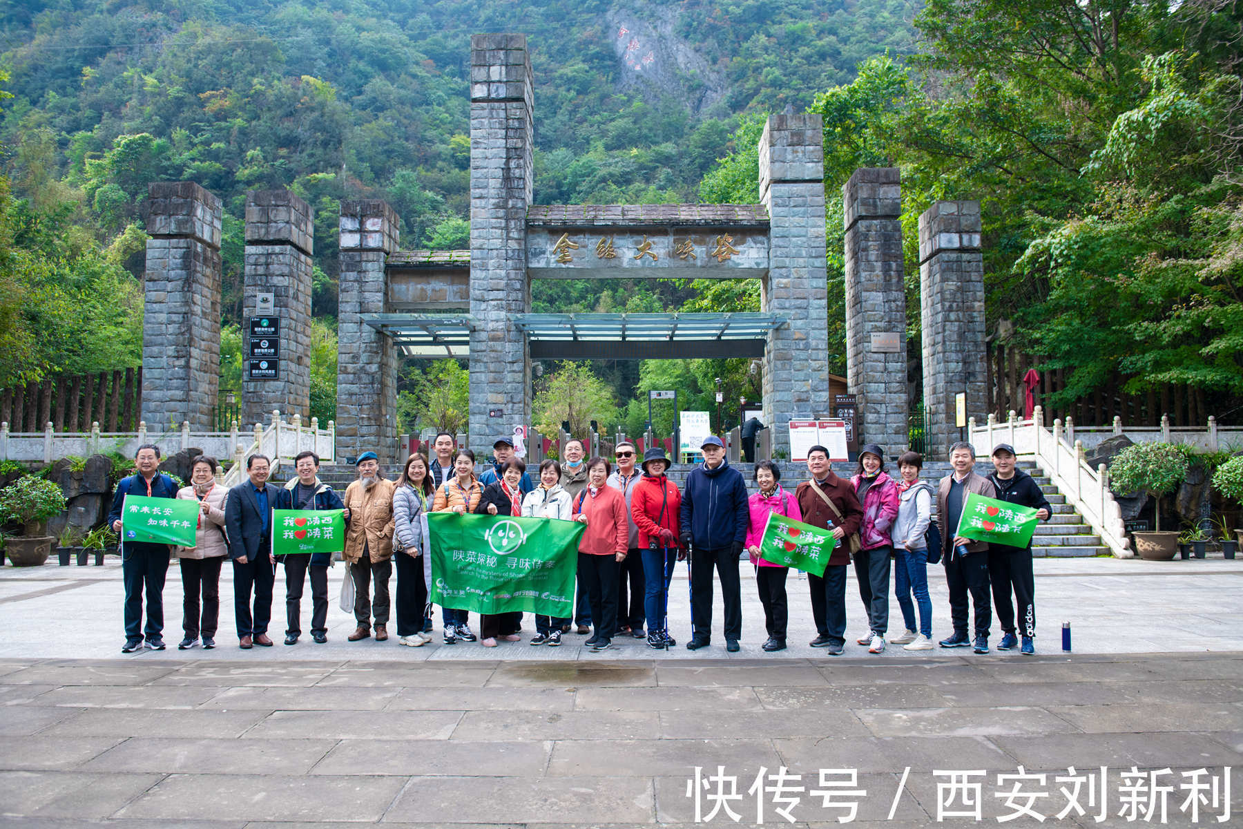
[[[690,650],[712,639],[712,568],[725,602],[725,649],[738,650],[742,636],[742,587],[738,558],[747,538],[747,482],[725,460],[725,444],[709,436],[700,447],[704,465],[691,470],[682,491],[681,541],[691,548]]]

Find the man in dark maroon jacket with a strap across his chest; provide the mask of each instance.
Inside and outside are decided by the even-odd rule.
[[[812,446],[807,452],[807,469],[812,474],[794,490],[803,521],[817,527],[833,529],[838,539],[824,568],[824,578],[807,574],[812,590],[812,618],[815,619],[817,636],[812,648],[824,648],[830,656],[842,654],[846,634],[846,564],[850,563],[851,536],[859,532],[863,506],[854,493],[850,481],[833,474],[829,450]],[[832,501],[832,506],[825,501]]]

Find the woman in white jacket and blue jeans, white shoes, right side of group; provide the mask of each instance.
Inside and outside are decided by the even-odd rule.
[[[902,609],[906,633],[891,640],[905,644],[905,650],[932,650],[932,600],[929,598],[929,551],[924,533],[932,518],[932,490],[920,481],[924,456],[905,452],[897,459],[901,481],[897,482],[897,518],[890,533],[894,539],[894,593]],[[912,604],[911,595],[915,602]],[[915,631],[915,605],[920,609],[920,629]]]

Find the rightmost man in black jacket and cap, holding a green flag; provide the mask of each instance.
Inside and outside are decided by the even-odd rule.
[[[1053,507],[1044,497],[1044,491],[1030,475],[1014,466],[1014,447],[998,444],[993,449],[993,474],[988,476],[997,490],[997,500],[1017,503],[1021,507],[1035,510],[1035,517],[1048,521]],[[988,580],[993,585],[993,605],[997,608],[997,621],[1001,624],[1002,640],[997,650],[1012,650],[1018,645],[1014,626],[1014,605],[1011,604],[1011,592],[1018,604],[1019,624],[1023,628],[1021,653],[1030,656],[1035,653],[1032,638],[1035,636],[1035,575],[1032,572],[1032,542],[1027,547],[1009,544],[988,546]]]

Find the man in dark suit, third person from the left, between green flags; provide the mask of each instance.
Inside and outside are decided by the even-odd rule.
[[[234,614],[237,618],[237,646],[270,648],[267,623],[272,618],[272,583],[276,558],[272,556],[272,508],[280,491],[267,482],[271,461],[266,455],[246,459],[246,475],[229,490],[225,502],[225,529],[229,533],[229,558],[234,563]],[[250,594],[255,590],[255,613]]]

